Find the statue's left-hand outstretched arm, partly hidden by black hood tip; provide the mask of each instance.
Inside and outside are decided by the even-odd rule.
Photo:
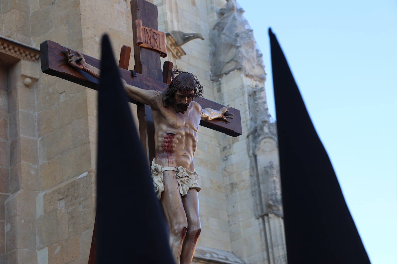
[[[84,70],[85,72],[91,74],[95,78],[99,78],[99,72],[100,72],[99,69],[86,63],[83,55],[81,55],[79,51],[76,51],[76,55],[74,55],[73,53],[71,53],[70,49],[67,49],[65,51],[65,54],[68,59],[67,62],[71,66],[79,70]],[[127,92],[127,95],[136,101],[139,101],[144,104],[148,104],[150,106],[156,106],[156,103],[160,101],[159,91],[141,89],[127,84],[127,82],[125,82],[125,80],[123,79],[121,79],[121,83],[123,84],[125,91]]]

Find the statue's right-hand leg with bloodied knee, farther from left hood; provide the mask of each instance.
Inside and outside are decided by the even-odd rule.
[[[183,207],[187,217],[187,234],[183,242],[181,264],[191,264],[196,251],[198,237],[201,233],[200,216],[198,215],[198,194],[196,189],[190,189],[182,196]]]

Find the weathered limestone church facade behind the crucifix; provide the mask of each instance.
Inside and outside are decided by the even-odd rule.
[[[276,124],[244,10],[235,0],[149,2],[166,32],[162,61],[195,74],[207,99],[241,111],[239,137],[199,129],[202,232],[193,263],[286,263]],[[99,58],[106,32],[118,58],[133,45],[129,1],[0,4],[0,263],[87,264],[97,92],[43,74],[39,46],[52,40]]]

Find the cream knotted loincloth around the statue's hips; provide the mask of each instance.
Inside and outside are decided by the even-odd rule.
[[[161,167],[152,161],[152,167],[150,167],[152,173],[154,191],[156,192],[157,198],[161,198],[161,193],[164,191],[164,171],[175,171],[175,176],[179,186],[179,193],[184,196],[187,194],[189,189],[195,188],[197,192],[200,192],[201,187],[198,185],[198,175],[195,171],[189,171],[182,166],[179,167]]]

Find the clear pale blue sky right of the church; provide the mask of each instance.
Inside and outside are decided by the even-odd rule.
[[[270,114],[276,116],[268,27],[287,57],[372,264],[397,264],[397,1],[239,4],[263,53]]]

